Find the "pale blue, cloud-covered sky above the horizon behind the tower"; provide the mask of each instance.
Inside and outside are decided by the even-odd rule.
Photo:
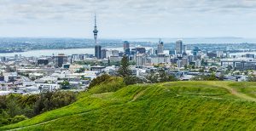
[[[253,37],[256,0],[0,0],[0,37]]]

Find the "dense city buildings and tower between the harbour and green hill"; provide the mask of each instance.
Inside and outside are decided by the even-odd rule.
[[[142,83],[148,83],[148,75],[160,70],[180,81],[205,80],[205,77],[238,82],[255,79],[254,54],[230,55],[228,50],[204,50],[198,46],[188,50],[182,40],[177,40],[174,48],[169,50],[165,50],[161,40],[150,48],[131,48],[128,41],[123,42],[122,51],[102,48],[97,43],[96,18],[93,33],[95,54],[66,55],[63,52],[41,57],[19,54],[0,57],[0,95],[84,91],[102,74],[117,76],[124,56],[130,63],[132,75]]]

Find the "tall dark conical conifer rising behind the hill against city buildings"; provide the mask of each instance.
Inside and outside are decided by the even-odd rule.
[[[119,67],[119,76],[120,77],[130,77],[132,72],[131,69],[129,67],[129,60],[128,57],[126,55],[123,56],[122,60],[121,60],[121,65]]]

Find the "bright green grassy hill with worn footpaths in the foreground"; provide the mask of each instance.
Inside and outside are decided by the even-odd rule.
[[[124,87],[120,79],[113,78],[80,94],[72,105],[0,130],[255,130],[255,101],[256,83]]]

